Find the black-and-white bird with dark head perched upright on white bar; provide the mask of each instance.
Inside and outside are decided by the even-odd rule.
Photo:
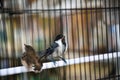
[[[67,63],[66,60],[62,57],[62,54],[64,54],[66,50],[67,44],[65,41],[65,36],[63,34],[58,34],[50,47],[40,52],[40,54],[43,54],[40,59],[49,59],[55,64],[54,58],[60,58],[65,63]]]

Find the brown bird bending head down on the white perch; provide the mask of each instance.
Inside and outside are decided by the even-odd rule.
[[[38,54],[35,52],[34,48],[30,45],[25,46],[25,52],[21,56],[21,63],[23,66],[27,67],[28,70],[34,67],[35,72],[41,71],[42,62],[39,59]]]

